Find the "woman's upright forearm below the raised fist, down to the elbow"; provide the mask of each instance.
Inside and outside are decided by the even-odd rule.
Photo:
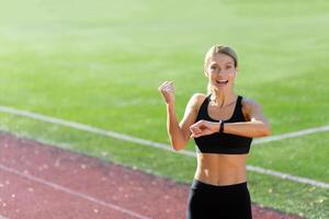
[[[167,104],[167,131],[174,150],[180,150],[186,145],[172,104]]]

